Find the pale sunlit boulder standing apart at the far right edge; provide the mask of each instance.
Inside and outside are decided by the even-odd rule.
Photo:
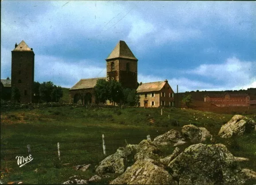
[[[256,130],[254,120],[241,115],[233,116],[219,131],[222,138],[230,138],[234,135],[244,135],[246,132]]]

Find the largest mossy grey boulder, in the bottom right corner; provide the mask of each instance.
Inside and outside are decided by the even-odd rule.
[[[255,172],[237,166],[223,144],[191,145],[168,165],[179,184],[244,184],[255,181]]]

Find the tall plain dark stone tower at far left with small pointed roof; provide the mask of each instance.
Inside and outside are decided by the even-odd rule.
[[[20,103],[31,103],[33,97],[35,54],[26,42],[12,50],[12,87],[20,91]]]

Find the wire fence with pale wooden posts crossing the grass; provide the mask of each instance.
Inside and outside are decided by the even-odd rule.
[[[138,143],[142,139],[148,139],[148,136],[129,136],[129,137],[104,137],[78,139],[72,141],[29,143],[28,145],[19,144],[0,144],[1,166],[17,163],[17,157],[31,155],[32,164],[43,163],[49,157],[60,162],[68,162],[72,156],[77,158],[81,156],[100,156],[106,157],[107,154],[113,154],[118,147],[126,146],[127,140]],[[134,143],[134,142],[133,142]],[[104,146],[105,145],[105,146]],[[59,146],[59,147],[58,147]],[[95,155],[96,154],[96,155]],[[66,158],[65,158],[66,157]],[[61,160],[64,158],[64,160]]]

